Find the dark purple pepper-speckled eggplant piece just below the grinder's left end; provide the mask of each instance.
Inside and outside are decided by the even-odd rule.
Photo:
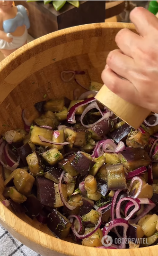
[[[112,129],[111,120],[104,119],[88,130],[95,133],[95,135],[97,135],[98,137],[101,137],[107,134],[111,129]]]

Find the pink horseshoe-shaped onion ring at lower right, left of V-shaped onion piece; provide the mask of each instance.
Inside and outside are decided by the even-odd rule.
[[[134,209],[130,212],[130,214],[125,217],[124,219],[126,220],[129,220],[130,218],[132,218],[132,216],[140,210],[140,204],[133,198],[130,198],[130,197],[123,197],[122,199],[120,199],[116,205],[116,218],[121,218],[121,213],[120,213],[120,210],[121,210],[121,203],[123,201],[131,201],[134,205]]]

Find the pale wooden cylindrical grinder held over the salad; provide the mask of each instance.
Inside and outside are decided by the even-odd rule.
[[[120,98],[105,85],[99,90],[95,98],[135,129],[139,128],[150,113],[148,109],[133,105]]]

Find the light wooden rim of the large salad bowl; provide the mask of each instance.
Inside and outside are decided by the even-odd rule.
[[[1,62],[1,68],[0,68],[0,77],[5,79],[8,74],[6,73],[5,69],[7,69],[8,65],[11,63],[16,63],[16,58],[21,55],[26,55],[28,53],[29,49],[33,49],[36,45],[39,45],[41,43],[44,43],[44,41],[49,41],[52,38],[57,38],[61,35],[67,35],[73,32],[77,31],[83,31],[83,30],[94,30],[96,28],[102,28],[102,29],[123,29],[123,28],[130,28],[135,29],[134,25],[131,23],[99,23],[99,24],[87,24],[77,27],[72,27],[60,31],[53,32],[51,34],[48,34],[46,36],[43,36],[39,39],[35,39],[34,41],[28,43],[27,45],[23,46],[22,48],[16,50],[13,52],[9,57],[4,59]],[[33,57],[33,54],[30,53],[30,58]],[[32,56],[31,56],[32,55]],[[22,58],[20,62],[18,63],[18,66],[24,63],[23,61],[25,58]],[[16,65],[14,65],[15,67]],[[18,67],[17,66],[17,67]],[[12,69],[14,71],[14,69]],[[11,72],[12,72],[11,71]],[[10,73],[11,73],[10,72]],[[3,99],[4,100],[4,99]],[[143,247],[143,248],[137,248],[137,249],[100,249],[100,248],[93,248],[88,246],[80,246],[77,244],[72,244],[70,242],[66,242],[63,240],[60,240],[58,238],[55,238],[53,236],[47,235],[44,232],[36,229],[35,227],[27,224],[25,221],[21,220],[19,217],[17,217],[15,214],[13,214],[7,207],[5,207],[0,202],[0,220],[5,223],[5,226],[9,226],[10,229],[13,229],[14,231],[18,232],[19,235],[24,236],[26,239],[36,243],[40,244],[41,246],[45,248],[49,248],[53,251],[59,252],[61,254],[66,254],[70,256],[80,256],[84,255],[93,255],[93,256],[143,256],[145,254],[154,255],[153,253],[156,252],[158,246],[150,246],[150,247]],[[16,227],[16,223],[18,223],[18,226],[20,226],[20,229]],[[31,230],[31,232],[30,232]],[[29,233],[34,236],[29,236]],[[156,254],[155,254],[156,255]]]

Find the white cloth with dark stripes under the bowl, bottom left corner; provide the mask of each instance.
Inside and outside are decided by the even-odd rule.
[[[0,256],[41,256],[20,243],[0,225]]]

